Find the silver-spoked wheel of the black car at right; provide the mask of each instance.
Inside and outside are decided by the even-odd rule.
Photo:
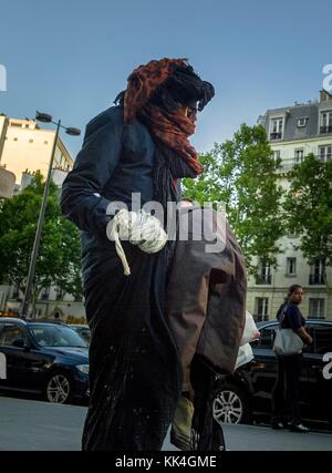
[[[235,383],[221,384],[214,395],[212,413],[219,423],[249,423],[251,415],[247,394]]]

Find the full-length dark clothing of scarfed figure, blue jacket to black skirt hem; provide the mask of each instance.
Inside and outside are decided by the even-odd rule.
[[[165,318],[167,245],[146,254],[123,241],[125,276],[106,237],[110,203],[131,208],[154,197],[155,143],[139,122],[112,107],[93,119],[62,189],[62,210],[81,230],[85,312],[91,328],[90,391],[83,450],[162,448],[181,388],[177,348]]]

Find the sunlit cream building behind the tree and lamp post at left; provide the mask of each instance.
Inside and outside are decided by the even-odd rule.
[[[55,138],[55,131],[40,128],[34,120],[10,119],[0,115],[0,184],[1,169],[11,179],[15,181],[15,193],[27,187],[35,171],[46,177],[51,153]],[[61,191],[62,183],[73,166],[73,160],[58,138],[52,179]],[[8,187],[8,186],[7,186]],[[7,193],[8,193],[8,188]],[[8,195],[10,197],[10,195]],[[0,189],[1,198],[1,189]],[[0,311],[18,313],[23,300],[23,294],[17,288],[0,285]],[[63,320],[83,320],[85,318],[82,299],[65,295],[59,288],[44,289],[37,304],[38,317],[54,317]]]

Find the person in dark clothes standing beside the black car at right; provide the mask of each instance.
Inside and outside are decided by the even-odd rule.
[[[291,328],[304,343],[311,345],[312,338],[305,330],[305,319],[299,306],[304,297],[303,289],[299,285],[289,288],[288,298],[278,310],[277,319],[281,328]],[[302,353],[278,357],[278,378],[272,392],[272,429],[289,429],[292,432],[309,432],[300,417],[299,389],[301,374]],[[291,420],[288,425],[288,408]]]

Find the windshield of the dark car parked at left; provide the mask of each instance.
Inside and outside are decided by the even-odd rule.
[[[42,347],[87,348],[85,341],[70,327],[31,323],[29,328]]]

